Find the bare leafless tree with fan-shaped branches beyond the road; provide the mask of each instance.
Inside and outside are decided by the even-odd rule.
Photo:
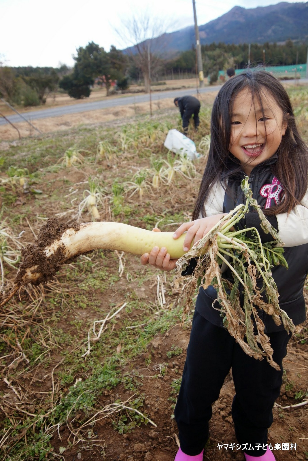
[[[149,93],[151,75],[157,74],[164,63],[166,24],[149,12],[144,12],[129,19],[122,19],[120,28],[115,30],[125,43],[124,53],[129,54],[136,67],[140,69],[145,91]]]

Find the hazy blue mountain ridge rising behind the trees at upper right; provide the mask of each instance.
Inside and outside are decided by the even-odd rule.
[[[207,24],[199,25],[201,45],[224,43],[265,43],[308,39],[308,2],[243,8],[229,12]],[[195,27],[166,34],[168,51],[184,51],[195,46]]]

